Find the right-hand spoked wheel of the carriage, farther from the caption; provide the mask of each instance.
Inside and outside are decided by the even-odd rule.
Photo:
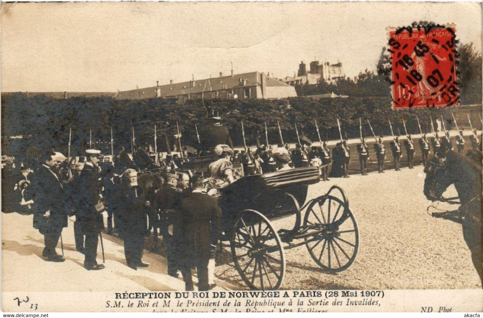
[[[306,246],[315,263],[329,273],[347,269],[359,248],[359,230],[354,214],[338,197],[329,195],[314,199],[307,207],[304,228],[313,236],[305,237]]]

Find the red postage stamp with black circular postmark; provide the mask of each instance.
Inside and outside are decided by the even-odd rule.
[[[389,30],[393,109],[458,105],[454,26]]]

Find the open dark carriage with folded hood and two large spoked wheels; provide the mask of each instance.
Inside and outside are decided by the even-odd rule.
[[[209,163],[202,161],[184,165],[183,170],[190,167],[192,173],[204,174],[204,164]],[[221,240],[230,242],[235,268],[251,289],[280,288],[285,249],[305,245],[315,263],[329,273],[354,262],[359,233],[343,190],[334,185],[305,202],[309,185],[319,180],[317,167],[303,167],[245,176],[220,190]],[[274,220],[290,215],[295,215],[293,226],[274,228]]]

